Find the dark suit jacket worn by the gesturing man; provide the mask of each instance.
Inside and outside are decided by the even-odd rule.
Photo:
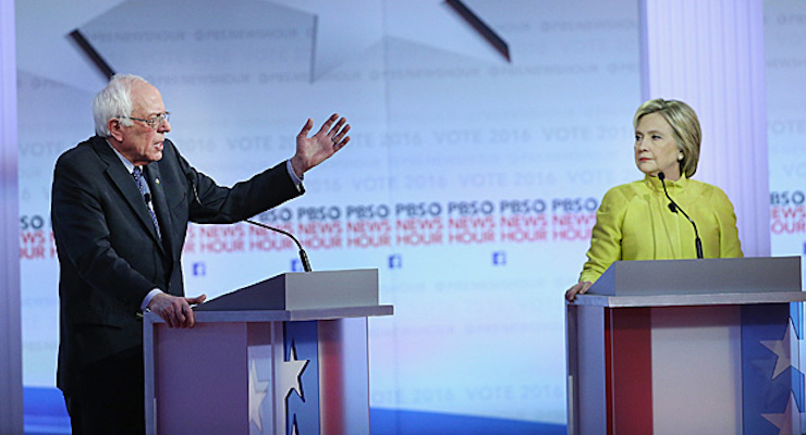
[[[51,200],[60,264],[57,385],[65,394],[87,382],[77,368],[143,346],[137,314],[151,289],[184,295],[180,258],[188,221],[237,222],[302,194],[284,162],[232,188],[218,186],[170,140],[162,159],[145,172],[162,241],[134,178],[105,138],[91,137],[57,161]]]

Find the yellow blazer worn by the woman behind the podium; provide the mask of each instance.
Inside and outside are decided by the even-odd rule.
[[[685,175],[667,181],[667,189],[697,224],[705,258],[743,257],[736,214],[722,189]],[[669,210],[660,179],[647,175],[604,194],[587,257],[579,281],[596,282],[618,260],[694,259],[694,228]]]

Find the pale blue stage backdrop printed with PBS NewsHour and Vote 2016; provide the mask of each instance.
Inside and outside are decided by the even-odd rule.
[[[806,253],[802,3],[766,11],[773,254]],[[16,13],[28,427],[61,412],[47,399],[50,183],[57,157],[93,135],[95,53],[162,91],[169,137],[220,184],[291,157],[307,117],[349,117],[353,140],[306,175],[308,192],[258,219],[295,233],[315,270],[380,270],[395,315],[370,321],[374,432],[428,415],[563,433],[562,294],[603,192],[642,176],[636,0],[40,0]],[[301,270],[289,240],[246,224],[193,226],[184,266],[188,294],[208,296]]]

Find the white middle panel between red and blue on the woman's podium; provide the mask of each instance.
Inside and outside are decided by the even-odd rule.
[[[651,312],[655,434],[741,434],[741,308]],[[684,430],[681,432],[681,430]]]

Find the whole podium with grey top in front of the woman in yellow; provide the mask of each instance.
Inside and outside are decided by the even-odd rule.
[[[799,434],[801,285],[799,257],[613,263],[566,304],[569,434]]]

